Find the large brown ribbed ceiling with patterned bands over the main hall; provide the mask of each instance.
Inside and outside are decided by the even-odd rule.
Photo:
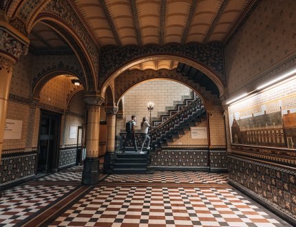
[[[256,0],[74,0],[101,46],[225,42]]]

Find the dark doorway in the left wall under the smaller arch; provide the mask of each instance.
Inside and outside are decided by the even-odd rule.
[[[41,110],[37,174],[56,173],[59,163],[61,114]]]

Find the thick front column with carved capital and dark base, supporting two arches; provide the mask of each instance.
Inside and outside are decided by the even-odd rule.
[[[87,133],[82,182],[84,185],[93,185],[97,184],[99,179],[100,108],[104,99],[101,96],[86,96],[85,102],[87,105]]]

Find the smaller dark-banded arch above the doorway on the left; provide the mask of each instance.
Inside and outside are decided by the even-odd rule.
[[[81,80],[83,87],[86,86],[83,74],[79,71],[79,69],[74,69],[74,67],[69,67],[67,65],[63,65],[63,63],[59,63],[56,65],[52,65],[52,67],[44,69],[42,72],[37,74],[37,76],[33,79],[32,83],[32,95],[34,98],[39,98],[41,89],[44,85],[56,76],[60,76],[63,74],[76,76]]]

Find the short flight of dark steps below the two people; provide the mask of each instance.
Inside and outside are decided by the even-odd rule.
[[[118,153],[113,173],[146,173],[148,155],[135,153],[135,151],[125,151]]]

